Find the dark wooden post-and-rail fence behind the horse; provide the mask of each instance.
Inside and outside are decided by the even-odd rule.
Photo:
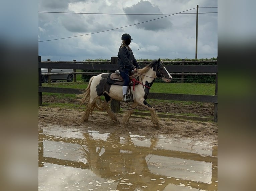
[[[143,68],[149,61],[138,62]],[[164,63],[180,64],[180,63],[216,63],[216,65],[165,65],[169,73],[197,73],[197,74],[216,74],[215,95],[189,95],[189,94],[161,94],[149,93],[151,99],[162,100],[177,100],[177,101],[197,101],[214,103],[214,122],[218,121],[218,66],[217,61],[166,61]],[[76,79],[76,70],[107,70],[114,72],[117,70],[117,57],[111,57],[111,61],[83,61],[83,62],[41,62],[41,57],[38,56],[38,105],[42,105],[42,92],[59,93],[59,94],[80,94],[80,90],[71,88],[50,88],[42,87],[41,84],[41,68],[58,68],[58,69],[73,69],[74,79]],[[76,81],[75,81],[76,82]],[[112,100],[111,108],[114,112],[120,111],[120,102]]]

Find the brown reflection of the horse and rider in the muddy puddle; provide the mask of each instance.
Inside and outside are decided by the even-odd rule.
[[[159,178],[166,177],[153,174],[148,169],[146,156],[154,151],[157,138],[150,139],[150,147],[141,149],[134,145],[129,134],[120,138],[117,133],[110,133],[105,141],[94,139],[90,132],[83,135],[86,144],[81,145],[81,158],[87,160],[94,174],[114,180],[117,183],[116,190],[164,190],[169,184],[165,180],[166,184],[160,185],[162,179]],[[147,188],[142,187],[145,185]]]

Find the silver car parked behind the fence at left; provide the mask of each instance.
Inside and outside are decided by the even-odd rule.
[[[42,68],[42,82],[48,81],[48,75],[43,75],[48,72],[47,68]],[[57,80],[67,80],[67,82],[72,82],[74,75],[72,74],[73,69],[51,69],[51,73],[70,73],[70,74],[56,74],[51,75],[51,81],[56,82]]]

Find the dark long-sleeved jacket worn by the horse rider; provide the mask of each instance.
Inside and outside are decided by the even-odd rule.
[[[119,49],[117,54],[117,66],[119,71],[131,71],[135,67],[140,68],[136,59],[134,58],[133,52],[128,47],[124,46]]]

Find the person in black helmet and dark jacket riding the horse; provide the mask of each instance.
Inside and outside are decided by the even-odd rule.
[[[134,70],[134,72],[137,72],[137,68],[140,68],[139,64],[137,63],[132,49],[129,47],[132,37],[131,35],[125,33],[121,37],[122,44],[118,51],[118,59],[117,59],[117,66],[118,70],[120,72],[120,75],[122,76],[124,80],[123,84],[123,101],[126,101],[126,94],[128,91],[129,86],[129,73]]]

